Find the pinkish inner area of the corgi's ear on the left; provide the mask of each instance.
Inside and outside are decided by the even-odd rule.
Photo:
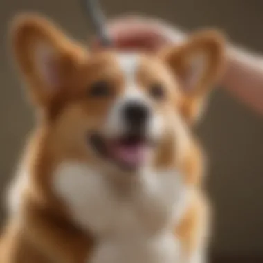
[[[48,89],[57,89],[60,86],[60,72],[57,62],[55,50],[47,44],[40,44],[37,48],[36,66]]]

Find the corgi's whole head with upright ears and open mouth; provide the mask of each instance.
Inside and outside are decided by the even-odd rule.
[[[90,52],[35,16],[17,19],[12,42],[54,152],[118,173],[178,154],[224,57],[212,31],[156,54]]]

